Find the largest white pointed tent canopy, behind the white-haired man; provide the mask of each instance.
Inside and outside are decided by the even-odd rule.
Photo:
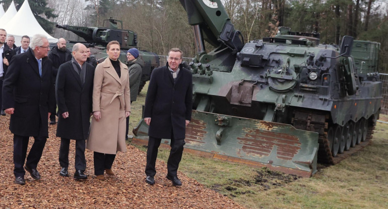
[[[32,14],[30,5],[28,4],[27,0],[24,1],[22,7],[14,16],[14,18],[12,18],[12,20],[9,21],[3,28],[7,31],[8,35],[15,36],[15,44],[17,46],[21,45],[20,41],[24,35],[27,35],[31,38],[35,34],[43,34],[47,36],[48,42],[50,43],[56,43],[58,41],[58,39],[50,36],[39,25],[38,21],[34,17],[34,14]]]

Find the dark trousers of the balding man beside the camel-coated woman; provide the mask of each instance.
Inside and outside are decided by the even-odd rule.
[[[85,171],[86,160],[85,160],[85,140],[75,140],[76,141],[76,170]],[[60,148],[59,148],[59,164],[61,167],[69,167],[69,147],[70,139],[60,138]]]

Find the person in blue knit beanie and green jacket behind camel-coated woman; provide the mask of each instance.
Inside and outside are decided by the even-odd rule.
[[[136,98],[138,97],[144,61],[139,56],[139,50],[136,48],[129,49],[126,52],[126,60],[128,61],[128,71],[130,72],[130,90],[132,104],[132,102],[136,101]],[[128,140],[128,126],[130,126],[130,117],[126,118],[125,140]]]

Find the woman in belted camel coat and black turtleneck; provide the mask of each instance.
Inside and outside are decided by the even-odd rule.
[[[106,58],[94,73],[93,119],[86,148],[94,151],[94,174],[105,180],[104,170],[111,170],[117,151],[125,152],[125,118],[130,116],[130,82],[128,68],[118,60],[120,45],[111,41]]]

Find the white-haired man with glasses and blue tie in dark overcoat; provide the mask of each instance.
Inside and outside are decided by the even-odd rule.
[[[55,110],[50,50],[46,36],[37,34],[31,40],[32,50],[15,55],[3,83],[3,106],[11,115],[14,134],[15,183],[25,184],[23,169],[29,137],[34,143],[24,168],[34,179],[40,179],[37,165],[48,138],[48,117]]]

